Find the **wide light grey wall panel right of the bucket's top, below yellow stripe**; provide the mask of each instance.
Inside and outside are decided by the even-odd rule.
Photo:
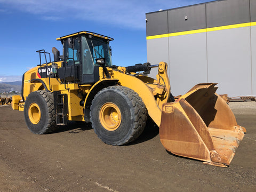
[[[207,33],[209,82],[219,83],[217,93],[252,94],[250,47],[250,27]]]

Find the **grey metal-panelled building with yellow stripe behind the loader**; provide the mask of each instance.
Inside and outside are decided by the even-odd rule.
[[[146,20],[148,62],[169,64],[173,95],[205,82],[229,97],[256,95],[256,0],[151,12]]]

